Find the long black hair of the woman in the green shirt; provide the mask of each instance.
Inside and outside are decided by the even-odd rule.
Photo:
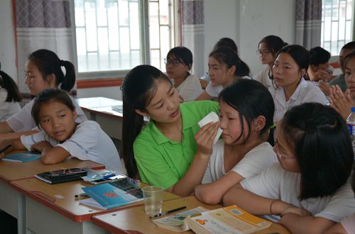
[[[136,160],[134,160],[133,154],[133,143],[144,124],[143,116],[138,115],[136,110],[146,111],[146,106],[151,102],[157,90],[155,82],[159,79],[163,79],[173,85],[170,79],[159,69],[151,65],[140,65],[131,69],[121,86],[124,102],[122,151],[129,177],[138,176]]]

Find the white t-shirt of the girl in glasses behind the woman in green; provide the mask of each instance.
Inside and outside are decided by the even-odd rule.
[[[195,101],[203,91],[199,79],[192,74],[186,77],[176,89],[184,101]]]

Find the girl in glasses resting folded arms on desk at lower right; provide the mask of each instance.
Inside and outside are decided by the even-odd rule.
[[[280,215],[278,223],[291,233],[324,233],[354,213],[354,152],[334,109],[317,103],[290,108],[276,128],[274,150],[279,163],[230,189],[224,206]]]

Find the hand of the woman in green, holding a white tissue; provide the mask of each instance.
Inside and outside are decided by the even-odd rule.
[[[216,138],[219,122],[207,123],[195,135],[197,143],[197,153],[211,155],[213,140]]]

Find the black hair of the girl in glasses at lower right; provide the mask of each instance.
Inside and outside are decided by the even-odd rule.
[[[299,199],[331,196],[349,179],[354,151],[342,116],[333,108],[305,103],[280,123],[300,168]]]

